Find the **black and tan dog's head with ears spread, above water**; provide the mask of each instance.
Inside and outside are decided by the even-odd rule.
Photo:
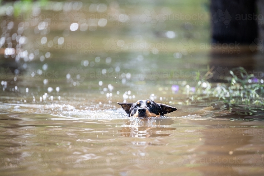
[[[171,113],[177,109],[152,100],[139,100],[135,103],[117,103],[130,117],[156,117]]]

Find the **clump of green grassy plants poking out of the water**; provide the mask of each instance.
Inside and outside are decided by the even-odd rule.
[[[208,79],[214,74],[213,69],[202,77],[197,73],[196,96],[192,99],[217,97],[218,100],[230,105],[263,108],[263,79],[257,79],[253,74],[248,74],[243,67],[238,67],[230,70],[230,76],[224,78],[227,83],[209,83]]]

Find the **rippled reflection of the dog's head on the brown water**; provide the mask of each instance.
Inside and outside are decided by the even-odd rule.
[[[174,123],[169,118],[126,120],[126,125],[118,131],[122,137],[162,137],[169,136],[176,128],[167,127]]]

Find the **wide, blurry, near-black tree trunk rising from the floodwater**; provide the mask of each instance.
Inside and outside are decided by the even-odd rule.
[[[251,44],[258,37],[256,0],[211,0],[213,42]]]

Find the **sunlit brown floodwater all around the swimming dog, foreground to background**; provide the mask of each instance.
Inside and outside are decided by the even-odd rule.
[[[262,85],[263,53],[212,50],[210,20],[207,1],[1,6],[1,175],[264,175],[261,98],[206,97],[236,66]],[[117,104],[139,99],[177,111]]]

